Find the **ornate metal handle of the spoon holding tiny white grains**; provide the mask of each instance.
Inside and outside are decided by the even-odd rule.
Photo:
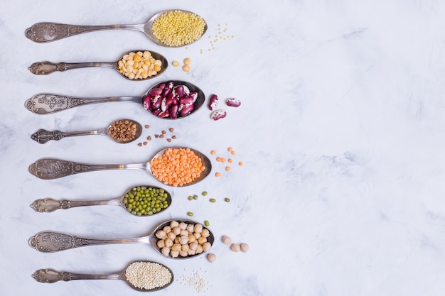
[[[39,269],[33,273],[33,278],[40,283],[55,283],[59,280],[123,280],[123,273],[112,275],[85,275],[79,273],[67,273],[66,271],[57,271],[50,268]]]

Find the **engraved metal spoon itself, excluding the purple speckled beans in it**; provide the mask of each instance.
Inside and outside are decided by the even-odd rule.
[[[71,109],[77,106],[84,106],[88,104],[97,104],[97,103],[109,103],[109,102],[133,102],[138,103],[144,108],[144,96],[150,92],[151,89],[155,89],[159,87],[160,84],[167,84],[168,82],[173,82],[175,85],[182,84],[188,87],[191,92],[197,92],[198,98],[195,101],[195,108],[191,113],[186,116],[190,116],[194,114],[201,106],[203,106],[205,102],[205,94],[204,92],[197,87],[195,84],[182,81],[182,80],[168,80],[166,82],[159,82],[151,87],[144,95],[139,97],[70,97],[65,96],[63,94],[36,94],[31,97],[31,99],[27,99],[25,102],[25,107],[29,111],[35,114],[52,114],[58,111],[63,111],[67,109]],[[150,112],[151,113],[151,112]],[[178,114],[177,119],[184,118],[186,116],[181,116]],[[158,117],[158,116],[156,116]],[[160,117],[159,117],[160,118]],[[166,118],[171,119],[171,118]]]

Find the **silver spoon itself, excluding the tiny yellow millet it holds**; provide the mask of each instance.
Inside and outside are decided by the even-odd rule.
[[[151,41],[153,41],[157,45],[166,47],[181,47],[190,45],[191,43],[178,46],[166,45],[162,43],[161,40],[156,38],[156,36],[154,35],[153,30],[151,29],[151,26],[153,26],[154,21],[163,13],[167,13],[169,11],[180,11],[180,10],[171,9],[171,10],[161,11],[159,13],[156,13],[154,16],[151,16],[149,21],[147,21],[146,23],[141,23],[136,25],[119,24],[119,25],[106,25],[106,26],[77,26],[77,25],[68,25],[64,23],[36,23],[33,26],[31,26],[31,28],[26,29],[25,35],[26,38],[33,40],[34,42],[47,43],[50,41],[59,40],[73,35],[78,35],[80,33],[102,31],[109,29],[129,29],[144,33],[148,38],[150,38]],[[182,11],[186,13],[191,13],[190,11],[184,11],[184,10]],[[207,23],[205,23],[202,35],[205,34],[205,31],[207,31]]]

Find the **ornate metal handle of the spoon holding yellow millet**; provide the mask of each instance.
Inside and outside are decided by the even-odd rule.
[[[37,43],[47,43],[82,33],[109,29],[132,29],[141,31],[141,25],[106,25],[106,26],[77,26],[65,23],[35,23],[25,31],[26,38]]]

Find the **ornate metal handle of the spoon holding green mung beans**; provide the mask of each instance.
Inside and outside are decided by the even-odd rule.
[[[36,199],[31,207],[36,212],[54,212],[56,209],[70,209],[72,207],[85,207],[85,206],[96,206],[96,205],[121,205],[121,198],[117,199],[107,199],[107,200],[55,200],[52,198]]]

